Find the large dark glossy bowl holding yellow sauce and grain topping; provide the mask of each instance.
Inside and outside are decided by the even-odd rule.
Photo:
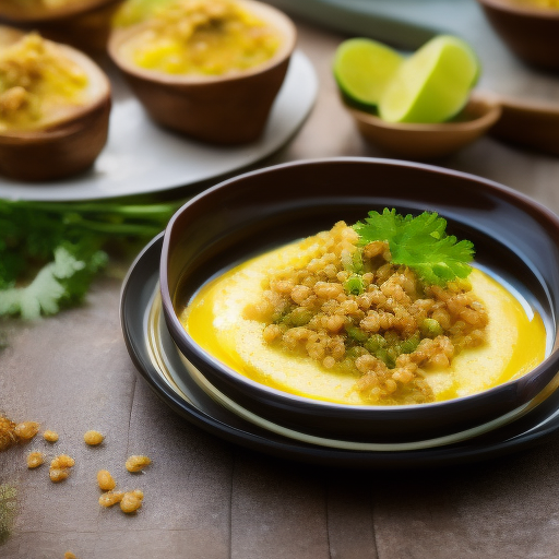
[[[432,404],[350,406],[295,396],[224,366],[186,333],[176,310],[210,277],[257,253],[355,223],[368,211],[437,211],[476,246],[476,261],[542,314],[549,355],[524,377]],[[420,164],[368,158],[298,162],[229,179],[182,206],[165,234],[160,289],[179,350],[222,393],[260,417],[346,440],[411,441],[451,435],[531,402],[559,371],[559,218],[507,187]]]

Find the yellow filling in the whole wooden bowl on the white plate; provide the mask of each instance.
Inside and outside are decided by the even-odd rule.
[[[169,74],[222,75],[270,60],[278,32],[230,0],[164,4],[122,46],[136,66]]]

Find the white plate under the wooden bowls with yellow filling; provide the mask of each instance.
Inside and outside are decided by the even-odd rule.
[[[144,194],[193,185],[240,169],[284,145],[307,118],[318,91],[309,59],[295,51],[262,138],[240,147],[188,140],[154,124],[119,80],[114,83],[109,139],[93,168],[56,182],[0,179],[0,198],[93,200]]]

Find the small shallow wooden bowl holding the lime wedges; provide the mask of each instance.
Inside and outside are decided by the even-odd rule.
[[[345,105],[361,135],[389,154],[431,159],[450,155],[489,130],[501,116],[490,98],[473,97],[459,118],[440,124],[393,123]]]

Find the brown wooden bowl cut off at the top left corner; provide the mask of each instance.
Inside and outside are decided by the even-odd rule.
[[[100,52],[107,46],[110,20],[122,0],[82,0],[60,8],[29,9],[0,1],[0,22],[39,31],[45,37]]]

